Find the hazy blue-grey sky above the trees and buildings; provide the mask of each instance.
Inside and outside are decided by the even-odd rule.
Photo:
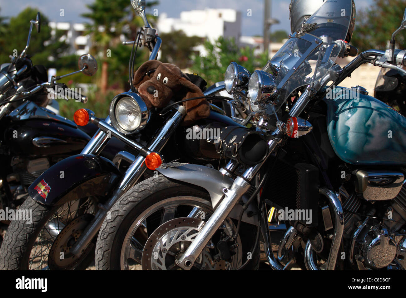
[[[94,0],[0,0],[0,15],[15,16],[27,6],[39,9],[50,21],[83,22],[80,14],[87,11],[86,4]],[[114,1],[114,0],[112,0]],[[128,0],[130,2],[130,0]],[[371,4],[372,0],[354,0],[357,10]],[[147,0],[148,2],[148,0]],[[262,35],[263,0],[159,0],[156,6],[158,15],[166,13],[168,17],[179,17],[181,11],[205,8],[230,8],[242,12],[242,35]],[[272,18],[279,24],[272,26],[272,31],[285,30],[290,33],[289,0],[272,0]],[[16,9],[17,8],[17,9]],[[60,17],[60,9],[65,16]],[[252,10],[252,16],[247,10]]]

